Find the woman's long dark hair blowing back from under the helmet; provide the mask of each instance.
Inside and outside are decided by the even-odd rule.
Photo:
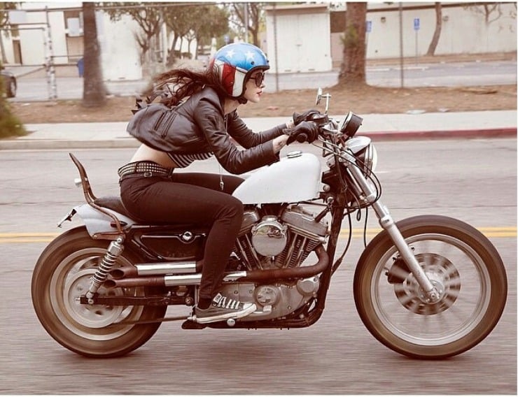
[[[155,90],[162,92],[162,103],[176,106],[182,99],[200,92],[204,87],[212,87],[220,98],[228,96],[212,68],[204,71],[193,71],[188,68],[177,68],[157,75],[154,79]]]

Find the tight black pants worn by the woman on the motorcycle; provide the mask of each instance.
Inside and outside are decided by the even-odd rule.
[[[128,211],[146,222],[209,226],[200,299],[218,293],[243,219],[243,204],[231,196],[241,178],[209,173],[174,173],[170,178],[123,178],[120,196]]]

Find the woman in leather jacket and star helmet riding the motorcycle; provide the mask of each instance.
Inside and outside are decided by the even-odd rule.
[[[130,163],[118,170],[121,198],[137,219],[210,227],[195,307],[197,322],[202,324],[256,310],[255,304],[218,291],[241,226],[243,204],[232,192],[243,180],[232,175],[174,173],[174,169],[215,156],[229,173],[246,173],[278,161],[281,148],[300,133],[309,142],[317,138],[316,125],[305,121],[313,110],[294,114],[293,120],[261,133],[254,133],[241,120],[237,108],[260,101],[268,68],[260,48],[232,43],[216,52],[206,71],[180,68],[159,75],[159,86],[173,87],[166,105],[176,106],[183,115],[183,122],[174,126],[177,144],[165,152],[142,143]]]

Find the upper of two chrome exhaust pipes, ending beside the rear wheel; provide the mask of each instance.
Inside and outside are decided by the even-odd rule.
[[[201,271],[201,264],[193,261],[186,262],[157,262],[151,264],[136,264],[111,270],[110,275],[115,280],[125,277],[140,277],[148,275],[191,274]]]

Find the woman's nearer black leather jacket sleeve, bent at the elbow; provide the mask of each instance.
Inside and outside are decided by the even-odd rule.
[[[246,173],[278,160],[272,140],[267,140],[245,150],[239,150],[225,131],[225,121],[221,110],[208,99],[198,103],[195,122],[200,127],[211,152],[226,171],[233,174]]]

